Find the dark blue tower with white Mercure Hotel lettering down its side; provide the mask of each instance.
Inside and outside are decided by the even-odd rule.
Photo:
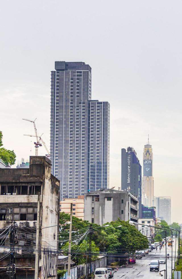
[[[130,188],[129,188],[130,187]],[[139,201],[139,217],[142,204],[142,167],[133,147],[121,149],[121,189],[129,190]]]

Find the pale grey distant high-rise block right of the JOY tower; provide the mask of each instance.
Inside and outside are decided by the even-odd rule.
[[[171,197],[154,197],[153,206],[156,207],[156,216],[171,224]]]

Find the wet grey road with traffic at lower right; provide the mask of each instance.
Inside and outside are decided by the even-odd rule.
[[[166,248],[164,247],[162,248],[161,251],[159,251],[159,248],[158,251],[153,250],[152,252],[149,252],[149,255],[142,257],[142,259],[137,259],[137,262],[135,264],[130,264],[129,268],[120,268],[117,272],[114,272],[113,278],[114,279],[156,278],[159,272],[150,271],[149,264],[152,259],[165,258],[166,257],[165,249]],[[169,253],[169,259],[167,259],[167,279],[171,279],[171,247],[167,247],[167,253]],[[173,243],[173,268],[174,268],[174,253],[175,253],[175,241]],[[177,257],[177,253],[176,253],[176,257]],[[163,269],[166,269],[166,264],[160,264],[159,270],[163,270]],[[164,278],[164,272],[162,272],[162,274]]]

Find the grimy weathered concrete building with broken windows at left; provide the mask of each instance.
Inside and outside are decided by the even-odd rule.
[[[36,253],[38,277],[57,278],[58,224],[59,180],[51,175],[47,157],[31,156],[29,169],[0,169],[0,278],[6,278],[13,230],[16,279],[34,278]]]

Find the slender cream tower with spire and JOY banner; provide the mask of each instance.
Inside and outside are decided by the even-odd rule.
[[[151,207],[154,197],[153,153],[152,145],[144,145],[143,152],[143,178],[142,178],[142,204]]]

